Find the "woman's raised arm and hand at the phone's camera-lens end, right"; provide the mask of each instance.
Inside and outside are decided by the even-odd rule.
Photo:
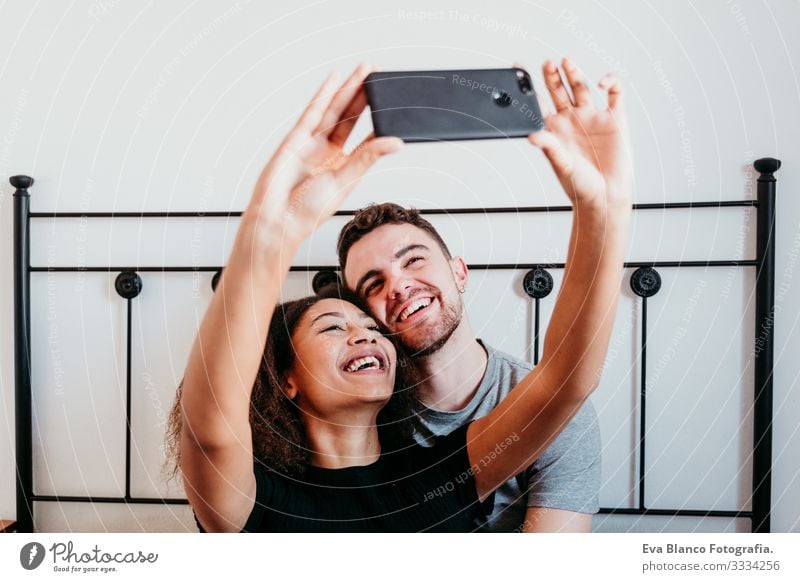
[[[573,206],[564,280],[541,361],[468,429],[481,498],[533,463],[597,387],[619,299],[633,190],[621,86],[604,77],[608,108],[597,110],[578,69],[566,59],[563,65],[575,102],[555,64],[545,63],[557,112],[529,140],[544,151]]]

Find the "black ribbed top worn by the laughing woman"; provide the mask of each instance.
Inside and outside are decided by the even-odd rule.
[[[360,467],[312,466],[301,478],[257,462],[255,505],[242,532],[474,531],[486,514],[470,470],[467,426],[433,447],[411,445]],[[484,503],[491,507],[491,498]]]

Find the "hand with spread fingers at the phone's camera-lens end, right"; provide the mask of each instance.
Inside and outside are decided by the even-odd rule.
[[[544,151],[573,206],[630,206],[633,160],[619,79],[608,74],[600,80],[608,109],[597,109],[583,75],[569,59],[562,65],[575,103],[555,63],[546,61],[542,71],[556,111],[538,96],[546,129],[528,140]]]

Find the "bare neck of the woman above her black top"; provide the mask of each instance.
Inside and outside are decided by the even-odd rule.
[[[342,469],[377,461],[381,454],[377,410],[325,420],[316,414],[304,414],[311,464],[325,469]]]

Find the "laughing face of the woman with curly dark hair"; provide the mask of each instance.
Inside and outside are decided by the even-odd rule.
[[[375,320],[348,301],[322,299],[300,318],[292,334],[295,361],[287,394],[321,418],[372,404],[394,389],[397,356]]]

